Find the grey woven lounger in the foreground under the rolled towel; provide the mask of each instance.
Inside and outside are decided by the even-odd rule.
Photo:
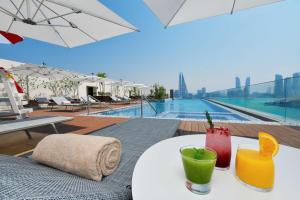
[[[1,155],[0,199],[132,199],[131,178],[138,158],[153,144],[173,137],[178,126],[176,120],[133,119],[92,133],[122,142],[118,169],[101,182],[37,164],[30,158]]]

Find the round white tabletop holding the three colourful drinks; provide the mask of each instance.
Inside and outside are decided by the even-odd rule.
[[[147,139],[147,138],[145,138]],[[214,170],[211,192],[197,195],[185,187],[179,149],[186,145],[204,146],[205,135],[189,135],[161,141],[139,158],[132,178],[133,200],[283,200],[299,199],[300,150],[280,145],[275,157],[275,185],[271,192],[252,190],[235,177],[238,144],[257,144],[258,140],[232,136],[231,166],[227,171]]]

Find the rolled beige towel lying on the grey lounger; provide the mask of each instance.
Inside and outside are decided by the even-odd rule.
[[[38,143],[32,157],[53,168],[100,181],[118,167],[121,142],[112,137],[53,134]]]

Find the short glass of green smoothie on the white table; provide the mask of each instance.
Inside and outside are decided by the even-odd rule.
[[[180,148],[186,187],[196,194],[210,192],[210,181],[216,165],[217,153],[206,147],[185,146]]]

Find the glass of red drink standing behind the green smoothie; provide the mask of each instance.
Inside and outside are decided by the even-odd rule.
[[[209,128],[205,146],[217,152],[216,167],[229,168],[231,160],[231,135],[228,128]]]

